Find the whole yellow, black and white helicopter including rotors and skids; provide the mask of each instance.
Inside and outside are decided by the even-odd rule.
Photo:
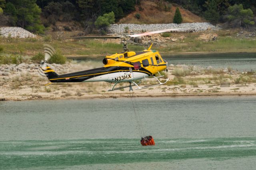
[[[173,32],[178,29],[160,30],[154,32],[146,32],[142,34],[126,35],[126,36],[115,36],[115,37],[72,37],[72,38],[121,38],[123,41],[123,52],[115,53],[113,55],[106,55],[103,59],[103,67],[90,69],[85,71],[78,71],[74,73],[67,73],[58,75],[52,68],[47,65],[47,60],[51,57],[55,50],[50,46],[44,47],[45,60],[41,61],[40,72],[48,77],[51,83],[71,83],[71,82],[94,82],[94,81],[105,81],[115,83],[112,89],[118,90],[126,87],[132,88],[136,86],[136,90],[149,88],[152,86],[162,85],[168,81],[162,83],[159,78],[164,77],[160,74],[160,71],[166,70],[168,65],[167,61],[162,59],[159,51],[152,50],[150,45],[148,49],[143,51],[134,52],[129,51],[127,46],[128,37],[140,37],[151,34],[159,34],[162,32]],[[152,78],[147,78],[152,76]],[[135,83],[136,80],[140,80],[139,83]],[[158,84],[150,85],[146,87],[140,87],[139,84],[142,81],[156,80]],[[114,88],[118,83],[128,82],[130,85]],[[133,85],[132,85],[133,84]]]

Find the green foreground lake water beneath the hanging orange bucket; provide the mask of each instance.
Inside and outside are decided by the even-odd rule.
[[[255,169],[256,97],[0,102],[0,169]]]

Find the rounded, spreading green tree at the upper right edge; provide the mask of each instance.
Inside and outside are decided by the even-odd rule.
[[[225,16],[226,21],[231,27],[245,27],[254,25],[253,12],[250,8],[244,10],[242,4],[228,7],[228,14]]]

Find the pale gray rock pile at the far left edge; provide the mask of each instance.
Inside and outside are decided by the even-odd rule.
[[[0,36],[8,38],[36,38],[35,34],[20,27],[0,27]]]

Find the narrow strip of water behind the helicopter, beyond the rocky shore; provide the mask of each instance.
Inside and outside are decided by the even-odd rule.
[[[72,58],[77,61],[92,61],[98,67],[102,67],[102,59],[88,58]],[[214,68],[232,67],[238,71],[251,71],[256,70],[256,53],[213,53],[213,54],[193,54],[193,55],[166,55],[163,58],[168,61],[168,64],[185,64],[185,65],[200,65],[204,68],[212,66]]]

